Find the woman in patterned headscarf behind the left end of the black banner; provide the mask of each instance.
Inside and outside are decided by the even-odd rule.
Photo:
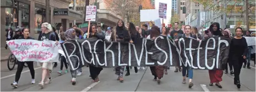
[[[70,41],[70,40],[76,40],[78,39],[78,37],[76,36],[76,32],[75,32],[75,29],[74,28],[69,28],[65,34],[65,39],[66,41]],[[73,63],[76,63],[74,65],[77,65],[78,62],[73,62]],[[72,68],[70,68],[70,73],[71,73],[71,76],[72,76],[72,85],[75,85],[77,82],[76,82],[76,78],[77,78],[77,70],[72,70]]]

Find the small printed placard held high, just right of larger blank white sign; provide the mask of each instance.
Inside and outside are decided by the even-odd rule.
[[[159,18],[166,19],[167,3],[159,3]]]

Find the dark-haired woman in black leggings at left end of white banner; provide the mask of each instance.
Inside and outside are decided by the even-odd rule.
[[[29,34],[30,34],[29,28],[23,28],[21,33],[23,34],[23,36],[19,37],[18,39],[34,39],[34,38],[29,37]],[[23,70],[23,66],[24,66],[25,62],[18,61],[17,64],[18,64],[18,68],[17,68],[17,72],[15,74],[15,80],[12,84],[10,84],[14,88],[18,88],[18,81],[20,79],[20,74]],[[31,77],[32,77],[31,83],[35,84],[34,63],[33,63],[33,61],[26,61],[26,64],[28,64],[30,74],[31,74]]]

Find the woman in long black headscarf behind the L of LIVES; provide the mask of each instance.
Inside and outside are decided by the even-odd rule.
[[[112,42],[130,42],[133,43],[132,39],[130,38],[130,34],[128,30],[126,29],[126,26],[124,26],[124,22],[122,20],[118,20],[116,29],[113,30],[110,41]],[[128,47],[123,47],[128,48]],[[124,52],[122,52],[122,55],[124,55]],[[123,56],[121,56],[123,58]],[[123,59],[121,59],[123,60]],[[115,68],[116,74],[118,75],[117,80],[119,80],[121,83],[123,83],[123,71],[124,66],[118,66]]]

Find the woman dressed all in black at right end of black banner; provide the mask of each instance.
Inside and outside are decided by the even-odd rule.
[[[243,65],[243,62],[246,61],[246,55],[247,55],[247,42],[246,38],[242,37],[242,28],[237,27],[236,28],[236,36],[231,39],[230,43],[230,58],[234,66],[234,84],[237,85],[237,88],[240,89],[240,79],[239,74],[241,72],[241,68]]]

